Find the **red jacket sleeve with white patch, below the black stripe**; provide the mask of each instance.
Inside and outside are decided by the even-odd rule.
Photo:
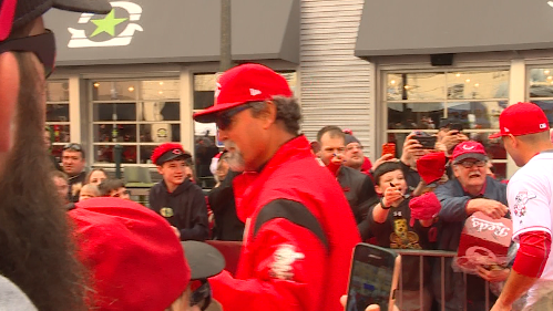
[[[249,279],[234,279],[227,271],[209,279],[225,311],[319,309],[328,257],[310,230],[276,218],[264,224],[250,242],[250,253],[240,259],[240,265],[250,265]]]

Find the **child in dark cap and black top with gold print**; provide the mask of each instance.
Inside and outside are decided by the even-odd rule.
[[[392,249],[431,249],[429,231],[433,219],[418,220],[410,225],[411,210],[408,185],[398,162],[387,162],[375,170],[376,191],[381,196],[367,217],[369,230],[380,247]],[[439,203],[438,203],[439,204]],[[403,256],[401,268],[402,291],[396,304],[401,310],[430,310],[432,297],[429,290],[430,265],[423,261],[423,307],[420,303],[420,258]]]

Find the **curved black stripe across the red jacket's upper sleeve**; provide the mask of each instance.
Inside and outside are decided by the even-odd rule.
[[[275,218],[285,218],[297,226],[311,231],[325,246],[327,252],[330,250],[327,236],[320,226],[319,220],[303,204],[289,199],[276,199],[262,208],[254,225],[254,235],[257,235],[265,222]]]

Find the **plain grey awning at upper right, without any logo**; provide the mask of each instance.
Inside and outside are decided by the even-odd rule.
[[[553,48],[553,1],[366,0],[357,56]]]

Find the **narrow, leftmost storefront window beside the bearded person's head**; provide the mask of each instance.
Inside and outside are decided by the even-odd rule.
[[[69,81],[48,82],[47,125],[52,132],[52,155],[58,160],[63,145],[71,141],[69,122]]]

